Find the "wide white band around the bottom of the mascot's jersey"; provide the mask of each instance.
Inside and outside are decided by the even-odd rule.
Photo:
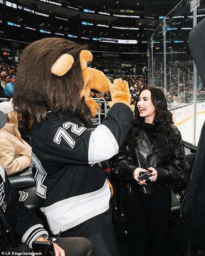
[[[41,208],[54,235],[73,228],[109,209],[110,188],[107,180],[103,187],[85,195],[73,196],[59,203]]]

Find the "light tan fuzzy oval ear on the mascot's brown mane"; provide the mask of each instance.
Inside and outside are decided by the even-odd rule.
[[[51,72],[58,76],[64,75],[70,70],[73,62],[73,57],[70,54],[65,53],[53,64]]]

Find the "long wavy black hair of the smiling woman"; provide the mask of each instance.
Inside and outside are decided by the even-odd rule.
[[[172,114],[167,109],[167,101],[161,89],[155,87],[145,87],[139,92],[137,101],[141,92],[144,90],[149,90],[151,92],[152,104],[155,107],[153,124],[156,127],[156,133],[154,135],[154,139],[157,146],[162,150],[162,152],[164,152],[161,157],[164,157],[168,155],[170,151],[169,145],[174,137],[174,133],[171,129],[171,124],[173,123]],[[135,138],[138,137],[142,132],[141,122],[142,119],[144,119],[144,117],[140,117],[137,101],[135,105],[135,117],[132,121],[132,125],[127,136],[127,143],[131,146],[136,145]]]

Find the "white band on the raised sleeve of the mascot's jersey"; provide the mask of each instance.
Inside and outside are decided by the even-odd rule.
[[[113,133],[105,125],[99,125],[92,131],[89,148],[88,163],[93,164],[108,160],[118,153],[119,145]]]

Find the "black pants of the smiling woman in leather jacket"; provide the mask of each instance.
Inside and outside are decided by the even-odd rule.
[[[132,190],[132,214],[126,214],[129,256],[164,256],[171,200],[170,189],[156,195]]]

